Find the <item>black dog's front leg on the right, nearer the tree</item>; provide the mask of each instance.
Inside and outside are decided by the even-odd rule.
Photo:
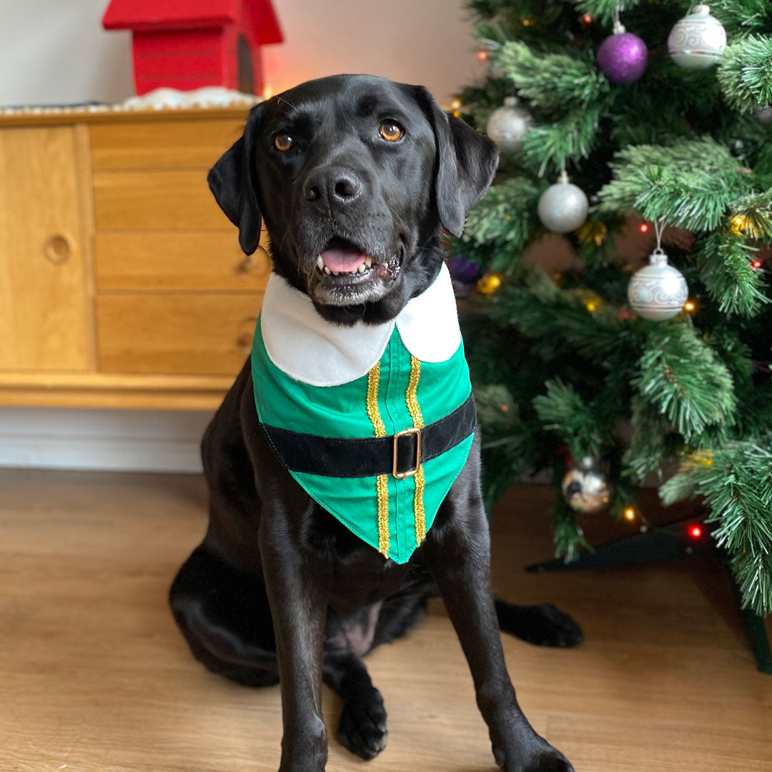
[[[517,704],[490,591],[490,541],[482,497],[469,477],[455,485],[459,487],[442,504],[424,549],[469,662],[496,763],[506,772],[573,772],[563,754],[533,730]]]

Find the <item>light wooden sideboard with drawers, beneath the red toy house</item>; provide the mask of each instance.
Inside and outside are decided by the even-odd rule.
[[[217,407],[270,271],[206,183],[246,113],[0,114],[0,405]]]

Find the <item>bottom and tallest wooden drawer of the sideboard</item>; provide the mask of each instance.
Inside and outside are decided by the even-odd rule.
[[[100,371],[235,375],[261,303],[262,293],[99,296]]]

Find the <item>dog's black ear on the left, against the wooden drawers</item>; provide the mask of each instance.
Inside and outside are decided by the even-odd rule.
[[[215,200],[239,229],[239,244],[251,255],[260,242],[262,215],[253,148],[264,103],[249,111],[244,134],[209,170],[207,181]]]

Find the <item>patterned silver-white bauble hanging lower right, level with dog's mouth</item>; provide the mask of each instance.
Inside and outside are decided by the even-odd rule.
[[[665,252],[655,249],[648,266],[639,268],[630,279],[628,300],[639,317],[661,322],[679,313],[689,300],[689,287],[679,269],[668,265]]]

